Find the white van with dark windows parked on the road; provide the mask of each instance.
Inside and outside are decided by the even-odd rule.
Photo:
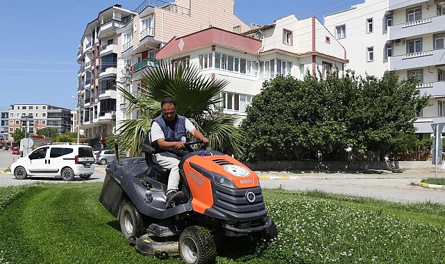
[[[93,149],[75,143],[44,145],[12,163],[10,173],[17,179],[61,176],[64,181],[72,181],[74,176],[80,176],[85,180],[94,173]]]

